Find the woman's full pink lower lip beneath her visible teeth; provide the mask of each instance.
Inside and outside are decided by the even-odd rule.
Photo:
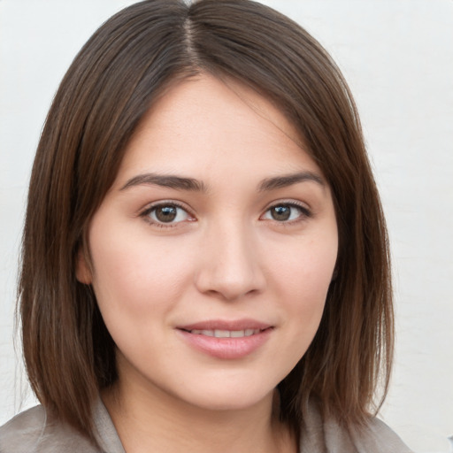
[[[201,334],[191,334],[186,330],[178,330],[188,344],[203,353],[217,358],[242,358],[249,356],[259,349],[269,338],[272,328],[265,329],[259,334],[240,338],[217,338]]]

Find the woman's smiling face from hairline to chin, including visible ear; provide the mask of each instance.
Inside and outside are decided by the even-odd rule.
[[[142,119],[91,221],[119,380],[210,409],[263,401],[316,333],[337,256],[319,167],[273,104],[179,82]]]

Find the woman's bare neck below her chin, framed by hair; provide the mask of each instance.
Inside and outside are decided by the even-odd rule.
[[[215,411],[119,383],[103,394],[127,453],[295,452],[296,441],[273,411],[273,395],[252,407]]]

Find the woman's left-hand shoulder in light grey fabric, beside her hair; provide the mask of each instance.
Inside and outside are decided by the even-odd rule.
[[[50,422],[41,405],[0,427],[0,453],[99,453],[85,437],[63,423]]]

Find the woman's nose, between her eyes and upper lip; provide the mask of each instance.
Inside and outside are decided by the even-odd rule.
[[[196,287],[203,294],[233,301],[265,288],[265,273],[253,233],[240,222],[212,227],[203,237]]]

